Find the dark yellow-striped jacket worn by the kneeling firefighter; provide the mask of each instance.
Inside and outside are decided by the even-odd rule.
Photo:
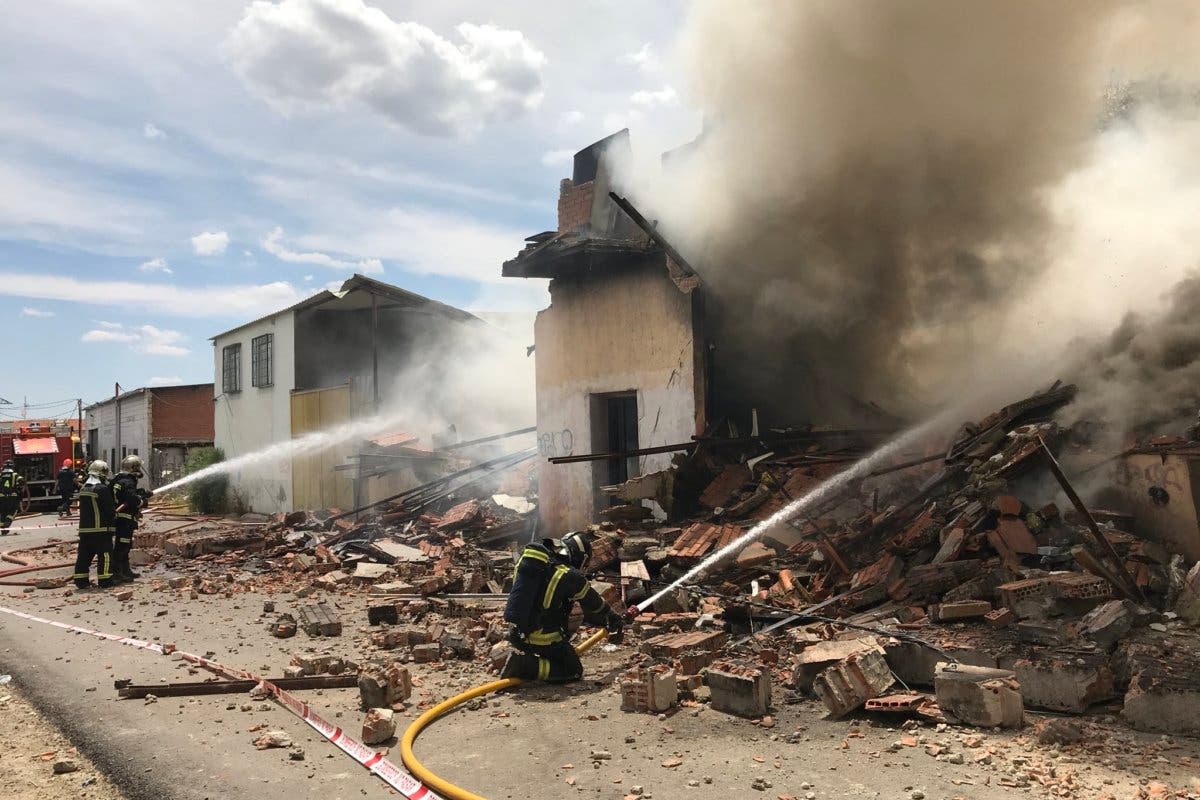
[[[529,644],[558,644],[566,640],[566,622],[576,602],[586,621],[604,625],[608,619],[608,604],[582,572],[565,564],[546,545],[527,546],[517,561],[512,591],[504,608],[505,621]]]

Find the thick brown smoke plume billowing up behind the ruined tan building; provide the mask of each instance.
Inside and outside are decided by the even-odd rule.
[[[830,403],[917,414],[968,381],[1015,393],[1129,308],[1099,287],[1082,323],[1033,315],[1079,311],[1039,293],[1096,246],[1080,241],[1096,209],[1073,192],[1123,152],[1102,144],[1106,88],[1194,74],[1195,22],[1188,4],[1120,0],[708,2],[685,37],[706,130],[630,191]],[[1129,192],[1112,187],[1114,203]],[[1174,281],[1198,254],[1189,243],[1162,266]],[[1110,255],[1136,271],[1136,248]]]

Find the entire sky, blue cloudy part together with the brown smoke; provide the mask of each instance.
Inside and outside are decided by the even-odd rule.
[[[1186,407],[1156,383],[1187,385],[1178,359],[1074,367],[1130,312],[1142,344],[1110,357],[1164,341],[1200,267],[1198,13],[24,4],[0,19],[0,313],[23,356],[0,395],[211,379],[209,336],[353,271],[535,309],[544,287],[500,261],[552,227],[571,154],[629,126],[629,191],[832,402],[916,415],[1080,377],[1153,423],[1114,381]]]

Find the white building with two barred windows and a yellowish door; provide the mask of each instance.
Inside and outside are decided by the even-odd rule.
[[[355,275],[337,291],[218,333],[216,445],[228,461],[370,414],[415,357],[480,327],[464,311]],[[263,513],[353,507],[352,473],[335,468],[359,444],[246,465],[232,473],[232,488]]]

